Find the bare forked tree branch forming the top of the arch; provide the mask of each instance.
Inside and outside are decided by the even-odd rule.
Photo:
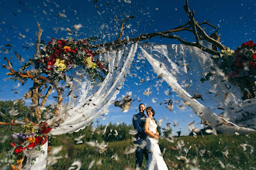
[[[139,42],[139,41],[143,41],[145,39],[154,38],[155,36],[162,36],[162,37],[168,38],[168,39],[178,39],[179,42],[182,42],[187,46],[196,46],[199,49],[202,49],[203,51],[205,51],[207,53],[220,56],[220,52],[218,51],[218,48],[219,49],[227,49],[227,47],[223,46],[220,43],[220,39],[211,38],[211,36],[208,36],[206,34],[206,32],[201,28],[202,25],[208,25],[208,26],[213,27],[214,29],[217,29],[216,26],[213,26],[212,24],[210,24],[209,20],[206,20],[202,23],[195,22],[195,18],[194,18],[195,12],[190,11],[189,0],[186,0],[186,5],[184,6],[184,9],[185,9],[185,12],[187,13],[187,15],[189,16],[189,22],[185,23],[182,26],[178,26],[175,29],[171,29],[171,30],[168,30],[165,32],[152,32],[152,33],[147,33],[147,34],[140,34],[140,36],[138,36],[138,37],[120,40],[122,33],[123,33],[123,23],[127,20],[127,19],[125,19],[122,23],[119,37],[116,39],[116,41],[92,45],[92,46],[90,46],[90,49],[103,48],[102,50],[97,50],[95,52],[95,56],[96,56],[96,55],[99,55],[99,53],[106,53],[106,51],[109,51],[110,49],[116,49],[119,46],[125,46],[125,45],[129,44],[130,42]],[[195,42],[185,42],[185,40],[183,40],[182,38],[180,38],[178,36],[171,35],[171,33],[181,32],[181,31],[192,32],[195,36],[196,43]],[[209,49],[208,47],[203,46],[202,40],[206,40],[207,42],[210,42],[213,47],[215,46],[215,48]]]

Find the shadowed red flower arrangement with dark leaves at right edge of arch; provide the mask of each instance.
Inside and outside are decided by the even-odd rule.
[[[242,93],[243,99],[255,97],[256,94],[256,45],[253,41],[243,43],[234,51],[221,50],[220,57],[214,57],[216,63],[223,70],[230,83],[234,83]],[[211,73],[206,75],[209,80]]]

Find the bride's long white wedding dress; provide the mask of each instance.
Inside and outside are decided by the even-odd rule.
[[[148,130],[156,133],[156,129],[157,124],[150,120]],[[167,165],[164,162],[164,158],[161,155],[158,140],[148,136],[146,148],[149,151],[146,170],[168,170]]]

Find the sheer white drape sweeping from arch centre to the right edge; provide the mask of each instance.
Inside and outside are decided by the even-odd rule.
[[[139,43],[139,46],[154,72],[168,83],[195,114],[208,121],[212,128],[233,134],[255,131],[255,99],[241,101],[239,88],[224,82],[220,70],[213,79],[205,83],[200,81],[203,74],[214,66],[208,53],[185,45]],[[202,95],[202,100],[193,99],[195,93]],[[221,117],[218,115],[221,112],[218,110],[220,107],[223,108]],[[243,121],[243,114],[247,112],[251,113],[251,117]],[[251,127],[242,128],[237,122],[249,124]]]

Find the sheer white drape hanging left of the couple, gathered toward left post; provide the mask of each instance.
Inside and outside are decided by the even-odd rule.
[[[50,133],[57,135],[79,131],[106,113],[123,86],[136,51],[137,44],[133,44],[100,56],[100,59],[109,63],[109,73],[100,84],[93,85],[89,78],[81,77],[81,73],[73,74],[76,79],[72,82],[73,93],[69,104],[63,107],[58,117],[48,121],[49,124],[52,121],[61,122]]]

